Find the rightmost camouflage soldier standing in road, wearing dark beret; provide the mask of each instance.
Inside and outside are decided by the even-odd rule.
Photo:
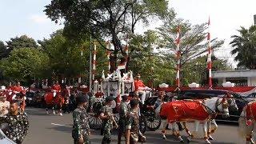
[[[126,144],[135,144],[139,141],[145,142],[146,137],[139,132],[138,100],[130,100],[130,107],[131,110],[127,114],[126,120]]]

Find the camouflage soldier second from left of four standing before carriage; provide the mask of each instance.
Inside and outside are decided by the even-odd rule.
[[[106,97],[105,106],[102,106],[100,110],[100,118],[102,119],[102,132],[103,132],[103,139],[102,144],[109,144],[111,142],[111,132],[113,129],[113,117],[112,107],[111,104],[114,98],[111,96]]]

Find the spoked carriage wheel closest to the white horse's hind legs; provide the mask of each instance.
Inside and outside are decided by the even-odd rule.
[[[155,131],[158,130],[161,126],[161,118],[156,116],[155,114],[150,114],[149,117],[146,118],[146,127],[151,130]]]

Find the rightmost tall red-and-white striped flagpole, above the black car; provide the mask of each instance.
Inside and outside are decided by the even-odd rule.
[[[213,82],[212,82],[212,76],[211,76],[211,68],[212,68],[212,62],[211,62],[211,54],[212,54],[212,49],[210,46],[210,17],[208,20],[208,34],[207,34],[207,41],[208,41],[208,57],[207,57],[207,69],[209,71],[209,88],[212,88]]]

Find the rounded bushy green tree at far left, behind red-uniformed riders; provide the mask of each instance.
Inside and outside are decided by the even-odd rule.
[[[6,78],[28,82],[34,77],[42,77],[49,69],[49,58],[34,48],[22,48],[11,51],[10,57],[0,61],[0,69]]]

